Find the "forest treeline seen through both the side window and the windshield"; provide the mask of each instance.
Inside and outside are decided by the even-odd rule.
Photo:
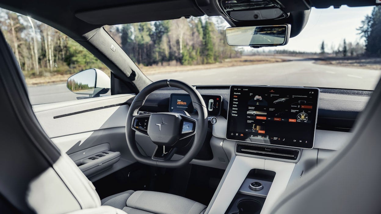
[[[210,64],[240,56],[227,45],[222,18],[190,18],[104,26],[141,65]],[[26,77],[107,70],[89,51],[58,30],[0,8],[0,25]]]

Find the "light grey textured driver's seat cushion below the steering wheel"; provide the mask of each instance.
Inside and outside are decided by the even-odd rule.
[[[128,214],[203,214],[207,208],[178,195],[133,190],[104,198],[101,203],[123,209]]]

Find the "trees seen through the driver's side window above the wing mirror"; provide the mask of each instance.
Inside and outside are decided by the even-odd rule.
[[[0,8],[0,27],[26,77],[107,69],[65,34],[27,16]]]

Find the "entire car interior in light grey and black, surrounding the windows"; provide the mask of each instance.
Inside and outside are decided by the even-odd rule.
[[[379,3],[0,2],[73,38],[111,70],[110,77],[88,69],[67,80],[80,96],[90,90],[90,99],[31,105],[0,35],[0,212],[379,213],[381,83],[367,91],[152,82],[103,27],[207,15],[232,27],[282,25],[292,40],[312,7]],[[92,90],[75,88],[88,78]]]

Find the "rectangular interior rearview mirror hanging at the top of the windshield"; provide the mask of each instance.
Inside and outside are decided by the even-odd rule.
[[[232,46],[279,46],[286,45],[290,38],[289,24],[274,26],[228,27],[227,43]]]

